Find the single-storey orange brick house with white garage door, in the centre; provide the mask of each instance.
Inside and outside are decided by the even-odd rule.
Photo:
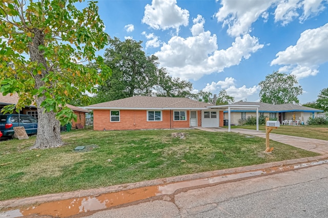
[[[223,111],[187,98],[133,96],[89,105],[94,130],[174,129],[223,126]]]

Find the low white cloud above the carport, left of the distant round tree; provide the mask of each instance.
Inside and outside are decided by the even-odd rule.
[[[240,101],[247,99],[248,96],[257,93],[260,89],[259,86],[247,88],[245,85],[243,85],[241,87],[236,87],[235,82],[236,80],[234,78],[227,77],[224,81],[212,82],[211,84],[208,83],[202,90],[209,91],[211,93],[219,93],[220,90],[226,89],[227,94],[233,96],[235,101]]]

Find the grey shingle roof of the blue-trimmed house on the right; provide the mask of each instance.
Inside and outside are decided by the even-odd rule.
[[[305,107],[301,105],[294,104],[281,104],[281,105],[272,105],[262,102],[236,102],[232,105],[259,105],[258,111],[273,111],[273,112],[284,112],[284,111],[314,111],[321,112],[322,110]],[[233,110],[244,110],[244,109],[233,109]]]

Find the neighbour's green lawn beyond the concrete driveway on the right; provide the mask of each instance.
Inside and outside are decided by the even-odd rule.
[[[231,126],[231,128],[242,128],[242,129],[255,130],[256,126]],[[259,130],[265,131],[265,126],[260,125]],[[277,129],[272,130],[272,133],[328,140],[328,126],[312,126],[312,125],[302,125],[302,126],[284,125],[284,126],[282,126],[282,125],[280,125],[280,127],[278,127]]]

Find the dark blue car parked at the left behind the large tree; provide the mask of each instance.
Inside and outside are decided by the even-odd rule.
[[[37,119],[26,114],[0,114],[0,131],[3,137],[12,137],[14,127],[23,126],[28,135],[37,133]]]

